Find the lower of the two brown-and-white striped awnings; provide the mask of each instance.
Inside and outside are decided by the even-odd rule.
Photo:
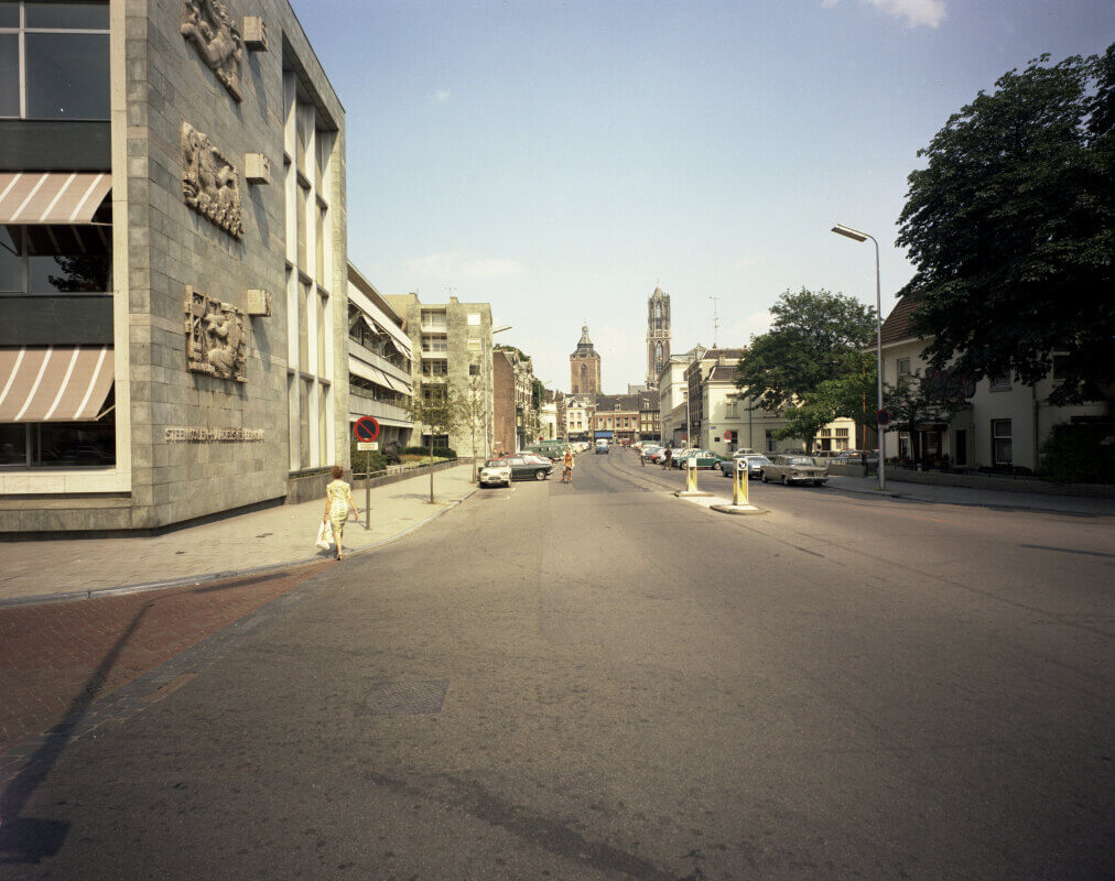
[[[0,422],[93,422],[113,388],[113,349],[0,349]]]

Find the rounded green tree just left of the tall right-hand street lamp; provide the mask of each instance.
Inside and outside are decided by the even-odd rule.
[[[830,291],[786,291],[770,314],[770,331],[752,337],[739,360],[736,385],[745,394],[754,390],[753,409],[772,413],[808,402],[822,382],[843,375],[849,355],[875,333],[874,309]]]

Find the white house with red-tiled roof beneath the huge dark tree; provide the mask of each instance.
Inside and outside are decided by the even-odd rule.
[[[930,375],[921,353],[927,341],[918,336],[911,317],[917,301],[902,297],[883,322],[883,382],[893,385],[900,375]],[[949,382],[947,375],[940,376]],[[927,460],[949,457],[953,468],[1026,468],[1037,470],[1039,451],[1055,425],[1072,422],[1111,422],[1115,402],[1055,407],[1049,393],[1056,388],[1057,359],[1049,375],[1026,385],[1011,375],[958,383],[967,404],[948,420],[918,427],[920,449]],[[910,458],[906,432],[882,434],[884,454]]]

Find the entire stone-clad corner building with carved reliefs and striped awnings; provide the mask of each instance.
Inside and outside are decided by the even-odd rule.
[[[318,495],[349,461],[345,111],[290,6],[2,6],[0,531]]]

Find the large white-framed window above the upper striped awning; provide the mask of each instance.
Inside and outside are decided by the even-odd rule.
[[[0,117],[108,115],[108,3],[0,3]]]

